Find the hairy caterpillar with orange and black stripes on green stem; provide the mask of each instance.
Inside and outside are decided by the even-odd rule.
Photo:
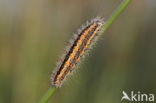
[[[103,19],[97,17],[90,20],[90,22],[78,30],[78,33],[74,34],[56,70],[52,73],[52,86],[60,87],[68,75],[75,70],[76,65],[89,50],[88,47],[94,42],[103,25]]]

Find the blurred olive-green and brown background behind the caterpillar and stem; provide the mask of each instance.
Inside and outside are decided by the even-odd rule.
[[[0,0],[0,103],[37,103],[73,33],[122,0]],[[49,103],[156,95],[156,0],[132,0]],[[125,101],[126,102],[126,101]]]

